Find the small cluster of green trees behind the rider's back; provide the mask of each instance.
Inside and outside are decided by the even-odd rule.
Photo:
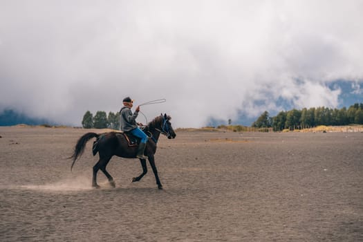
[[[82,127],[84,129],[119,129],[120,128],[120,113],[109,112],[109,115],[104,111],[93,113],[86,111],[83,115]]]

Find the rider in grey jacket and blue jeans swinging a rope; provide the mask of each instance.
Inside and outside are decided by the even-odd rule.
[[[137,106],[135,112],[132,113],[131,108],[133,106],[133,100],[131,100],[130,97],[125,97],[124,100],[122,100],[122,103],[124,106],[120,110],[120,129],[125,133],[131,133],[133,136],[141,139],[136,158],[145,160],[147,159],[147,156],[144,156],[144,152],[148,137],[146,133],[138,127],[136,122],[140,106]]]

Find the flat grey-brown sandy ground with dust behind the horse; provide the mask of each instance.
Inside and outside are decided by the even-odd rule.
[[[363,133],[180,131],[152,171],[114,157],[91,188],[88,131],[0,127],[0,241],[363,241]]]

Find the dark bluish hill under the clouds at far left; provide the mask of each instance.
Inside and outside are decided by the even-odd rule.
[[[18,113],[12,109],[5,109],[0,113],[0,126],[12,126],[17,124],[39,125],[53,124],[46,119],[30,118],[24,113]]]

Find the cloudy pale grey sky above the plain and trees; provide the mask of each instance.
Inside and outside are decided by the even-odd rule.
[[[335,108],[337,80],[363,96],[362,12],[360,0],[0,0],[0,112],[80,126],[127,96],[165,98],[142,106],[147,121],[203,127],[282,103]]]

